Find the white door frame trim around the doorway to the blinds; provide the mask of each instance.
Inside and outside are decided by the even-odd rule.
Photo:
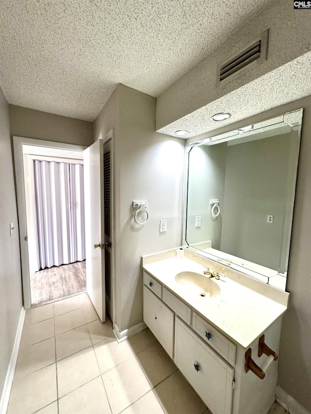
[[[69,149],[71,151],[78,151],[78,152],[84,151],[86,147],[81,146],[81,145],[65,144],[62,142],[45,141],[41,139],[13,136],[13,157],[14,157],[14,165],[15,165],[16,192],[17,192],[18,229],[19,229],[20,258],[21,258],[23,305],[25,309],[30,309],[31,308],[31,289],[30,289],[28,242],[27,242],[25,178],[24,178],[24,162],[23,162],[23,146],[27,146],[27,145],[36,146],[36,147],[52,148],[52,149]]]

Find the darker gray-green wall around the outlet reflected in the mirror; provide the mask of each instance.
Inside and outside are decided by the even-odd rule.
[[[221,250],[277,271],[290,138],[288,133],[227,148]],[[267,223],[268,214],[273,223]]]

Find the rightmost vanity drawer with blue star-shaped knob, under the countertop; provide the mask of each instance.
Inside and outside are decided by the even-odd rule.
[[[195,312],[192,316],[192,329],[229,364],[235,364],[236,345]]]

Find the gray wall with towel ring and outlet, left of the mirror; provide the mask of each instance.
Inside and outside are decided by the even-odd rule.
[[[110,106],[110,100],[115,104]],[[112,107],[118,111],[118,100],[119,125],[114,113],[114,122],[105,127],[107,111]],[[120,261],[116,322],[123,331],[142,321],[140,256],[181,242],[185,141],[155,132],[155,98],[120,84],[109,101],[94,122],[94,140],[115,127],[116,223],[120,222],[115,246]],[[133,220],[133,199],[148,201],[150,218],[144,226]],[[159,233],[164,218],[167,232]]]

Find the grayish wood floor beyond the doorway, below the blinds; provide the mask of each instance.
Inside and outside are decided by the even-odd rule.
[[[53,266],[30,276],[33,305],[68,298],[86,291],[86,261]]]

